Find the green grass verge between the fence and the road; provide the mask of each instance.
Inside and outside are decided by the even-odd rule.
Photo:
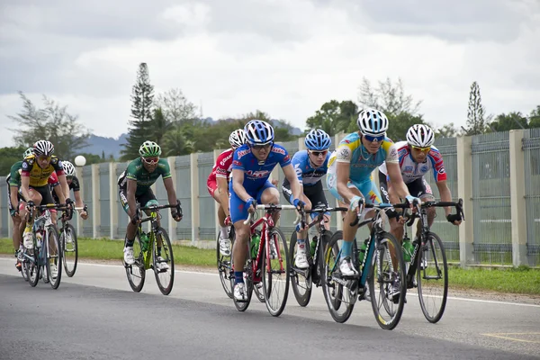
[[[121,260],[123,242],[109,239],[79,238],[79,259]],[[216,266],[216,250],[173,245],[175,264],[184,266]],[[0,254],[13,254],[11,239],[0,239]],[[499,293],[540,295],[540,269],[472,268],[449,266],[450,288],[486,290]]]

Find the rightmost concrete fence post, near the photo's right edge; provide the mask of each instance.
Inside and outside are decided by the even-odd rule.
[[[525,206],[525,157],[522,148],[525,130],[510,130],[510,206],[512,214],[512,262],[528,265],[527,211]]]

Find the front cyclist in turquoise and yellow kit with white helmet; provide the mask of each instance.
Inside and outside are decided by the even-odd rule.
[[[359,275],[351,260],[352,241],[357,228],[350,224],[356,220],[361,204],[381,202],[381,195],[371,175],[374,169],[386,161],[396,193],[409,202],[415,199],[401,178],[397,148],[392,140],[386,137],[388,130],[386,115],[374,109],[365,109],[358,114],[356,124],[359,131],[342,139],[336,151],[332,153],[327,177],[330,193],[349,208],[343,220],[344,241],[339,259],[339,271],[345,276]],[[365,209],[362,215],[371,217],[374,211]],[[399,292],[399,284],[394,284],[389,295],[396,299]]]

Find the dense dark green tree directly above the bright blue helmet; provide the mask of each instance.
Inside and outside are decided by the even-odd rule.
[[[308,130],[321,129],[330,136],[334,136],[340,131],[346,131],[351,123],[356,124],[357,116],[358,106],[356,103],[350,100],[341,103],[337,100],[330,100],[328,103],[323,103],[320,110],[308,118],[306,125]]]

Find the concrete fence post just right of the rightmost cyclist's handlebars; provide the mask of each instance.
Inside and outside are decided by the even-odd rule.
[[[464,199],[464,213],[467,219],[459,227],[459,260],[462,267],[474,261],[472,144],[473,138],[470,136],[457,138],[457,193]]]

